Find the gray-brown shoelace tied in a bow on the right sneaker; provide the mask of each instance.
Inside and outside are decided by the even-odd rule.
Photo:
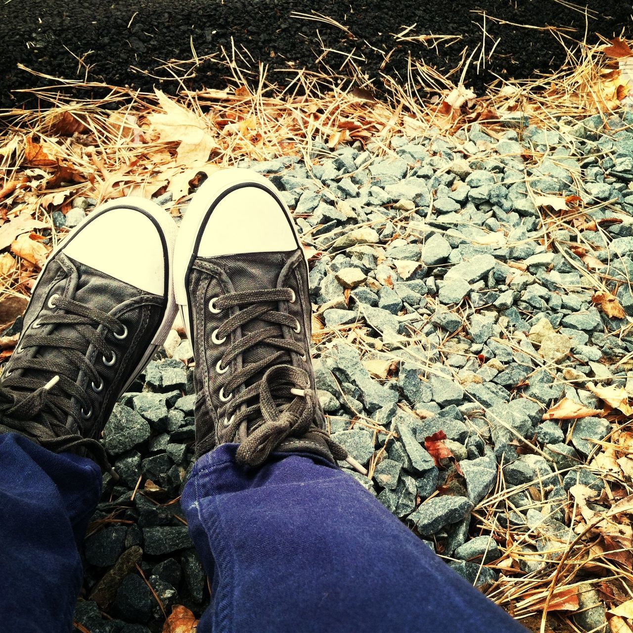
[[[214,330],[211,341],[220,345],[234,330],[255,319],[289,327],[299,333],[301,323],[294,316],[271,310],[269,305],[279,301],[294,303],[295,300],[294,291],[289,288],[232,292],[211,299],[209,309],[213,313],[246,306]],[[280,362],[289,352],[306,360],[306,350],[300,342],[279,337],[276,327],[257,329],[227,346],[227,351],[216,365],[216,373],[222,375],[227,372],[235,358],[261,344],[279,351],[255,363],[243,365],[223,380],[219,389],[220,401],[225,405],[218,415],[221,420],[223,417],[227,433],[241,440],[237,448],[237,460],[250,466],[260,465],[287,437],[301,438],[311,432],[323,436],[336,460],[346,460],[360,472],[366,472],[325,430],[316,425],[316,395],[310,387],[308,372]],[[260,380],[255,380],[235,394],[237,389],[258,375],[261,375]],[[248,405],[251,399],[254,404]]]

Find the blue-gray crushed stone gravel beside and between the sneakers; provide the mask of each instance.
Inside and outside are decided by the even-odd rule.
[[[609,133],[631,125],[633,115],[626,117],[611,116]],[[546,564],[537,555],[565,520],[549,499],[566,503],[577,483],[598,492],[605,487],[586,463],[611,423],[601,417],[544,421],[544,413],[563,398],[601,408],[588,382],[631,387],[617,363],[633,353],[633,334],[592,302],[577,253],[582,243],[592,266],[605,274],[601,283],[633,314],[627,286],[633,181],[618,175],[630,173],[624,159],[633,160],[633,134],[617,132],[627,149],[609,150],[611,165],[600,150],[611,142],[602,123],[591,123],[591,141],[583,136],[586,125],[578,125],[515,126],[496,141],[473,123],[468,135],[451,139],[396,137],[385,158],[372,141],[366,151],[354,144],[334,152],[315,142],[310,177],[298,160],[258,167],[301,209],[299,232],[320,253],[310,263],[310,300],[315,319],[327,328],[314,327],[318,399],[334,440],[371,477],[342,466],[436,551],[454,554],[451,567],[478,586],[494,582],[494,565],[486,565],[506,555],[503,543],[491,541],[491,525],[536,526],[534,545],[525,544],[530,560],[521,568],[537,569]],[[524,163],[532,148],[555,152],[556,161],[539,168]],[[621,172],[614,173],[616,162]],[[612,208],[585,211],[601,230],[567,230],[559,223],[547,229],[546,244],[555,248],[544,245],[541,211],[528,197],[526,178],[537,194],[587,201],[606,195],[603,187],[587,185],[608,184]],[[602,222],[612,216],[622,221]],[[327,231],[319,232],[323,227]],[[115,485],[106,475],[85,555],[86,595],[96,591],[108,616],[152,632],[160,624],[153,598],[148,607],[124,558],[139,560],[135,548],[167,603],[180,601],[199,615],[209,599],[187,528],[177,518],[182,512],[165,505],[186,480],[195,434],[191,355],[180,360],[178,353],[189,342],[172,335],[169,346],[122,396],[106,425],[103,444],[121,481]],[[436,460],[427,449],[439,432],[451,459]],[[510,511],[505,503],[481,508],[502,489]],[[115,509],[130,523],[98,523]],[[542,518],[550,511],[553,523]],[[85,604],[78,605],[80,617],[96,617]]]

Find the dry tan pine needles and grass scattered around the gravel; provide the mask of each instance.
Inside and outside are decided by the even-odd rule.
[[[319,15],[298,17],[329,20]],[[243,160],[260,161],[277,156],[299,156],[310,165],[319,160],[315,141],[325,142],[329,147],[353,142],[365,146],[372,142],[375,154],[391,155],[394,135],[453,134],[479,123],[494,137],[503,132],[499,120],[508,115],[527,116],[530,122],[543,127],[560,116],[579,119],[597,111],[608,115],[626,91],[617,70],[612,67],[613,60],[605,56],[601,46],[572,43],[565,39],[564,32],[556,35],[568,46],[565,70],[531,82],[510,84],[499,80],[482,97],[475,97],[460,84],[465,66],[476,63],[477,51],[465,51],[461,68],[448,76],[411,60],[408,81],[400,85],[384,77],[386,89],[380,99],[372,96],[369,91],[372,86],[361,84],[359,88],[358,82],[339,77],[340,69],[336,68],[329,76],[296,72],[294,78],[286,82],[287,87],[279,89],[266,75],[264,67],[253,65],[245,51],[235,49],[225,54],[222,61],[218,60],[230,74],[225,91],[182,90],[178,105],[173,101],[169,105],[166,97],[160,95],[118,87],[109,87],[108,96],[97,101],[70,98],[63,96],[60,82],[51,77],[50,87],[34,91],[40,99],[40,108],[2,115],[8,127],[0,137],[0,173],[3,175],[0,235],[3,230],[10,235],[20,217],[44,222],[51,231],[49,241],[39,237],[41,226],[29,230],[30,241],[40,244],[46,254],[63,237],[54,230],[51,214],[54,211],[66,213],[73,200],[80,196],[92,197],[100,203],[128,194],[151,196],[172,192],[171,211],[177,216],[181,206],[187,203],[190,186],[199,182],[204,174]],[[397,37],[406,41],[417,36],[411,34],[409,28]],[[429,45],[437,46],[444,37],[434,36],[429,39]],[[175,84],[189,77],[201,63],[195,51],[192,52],[192,60],[172,61],[162,66],[161,70],[173,77]],[[331,51],[324,51],[325,55],[329,53]],[[482,59],[485,58],[480,56],[480,63]],[[348,70],[353,68],[353,56],[344,65]],[[96,87],[85,82],[74,85],[87,91]],[[249,89],[247,85],[257,87]],[[171,131],[158,125],[154,117],[165,109],[182,125],[174,126]],[[206,160],[182,161],[185,139],[191,141],[191,134],[210,143],[210,156]],[[526,158],[530,164],[537,165],[544,157],[532,154]],[[580,229],[589,221],[586,211],[586,208],[567,213],[543,210],[543,239],[548,240],[551,232],[565,228],[579,236],[582,244]],[[396,225],[401,234],[424,235],[429,230],[425,223],[413,222],[411,213],[406,211]],[[331,237],[334,240],[337,235]],[[27,296],[39,270],[37,257],[16,248],[14,239],[15,236],[10,235],[3,246],[5,252],[0,255],[3,299],[11,294]],[[12,242],[10,254],[6,249]],[[310,249],[309,236],[306,243]],[[568,256],[564,248],[563,252]],[[315,249],[310,249],[310,254],[319,256]],[[579,266],[577,258],[570,261]],[[592,280],[595,289],[612,289],[608,274],[598,275],[588,272],[587,268],[581,272]],[[391,351],[360,326],[326,329],[318,320],[315,325],[318,349],[325,349],[329,341],[344,338],[364,354],[379,353],[387,360],[397,360],[406,352],[420,364],[424,377],[433,371],[426,351],[428,346],[421,334],[426,325],[424,320],[408,323],[410,337],[396,342]],[[442,341],[442,354],[451,350],[453,337]],[[507,332],[499,341],[521,349],[520,341]],[[2,354],[10,354],[10,349],[0,356]],[[540,357],[532,361],[535,369],[551,369]],[[570,379],[570,384],[578,386],[577,380]],[[484,411],[483,406],[481,411]],[[489,587],[489,596],[515,617],[532,617],[532,620],[540,617],[538,626],[542,632],[548,630],[546,620],[552,613],[573,613],[573,605],[577,604],[574,600],[587,589],[597,589],[610,606],[633,597],[631,507],[627,505],[633,490],[630,472],[625,472],[620,464],[620,460],[633,454],[633,448],[627,435],[628,420],[617,415],[617,411],[611,419],[618,422],[617,430],[602,446],[596,446],[587,466],[605,480],[605,492],[595,500],[599,505],[592,506],[591,498],[587,500],[583,496],[586,491],[582,489],[572,495],[571,503],[567,496],[551,501],[544,498],[542,482],[508,487],[500,475],[494,493],[473,510],[472,526],[479,534],[497,542],[503,552],[491,565],[500,576],[499,581]],[[356,415],[354,423],[375,434],[389,435],[367,417]],[[523,438],[520,442],[522,451],[541,453],[531,442]],[[370,475],[380,456],[377,453],[372,460]],[[522,491],[527,492],[534,507],[541,508],[543,513],[560,518],[558,512],[562,511],[562,520],[567,526],[565,532],[551,533],[543,525],[530,528],[499,522],[499,513],[507,517],[513,511],[527,511],[528,508],[517,508],[513,504],[513,496]],[[104,521],[120,519],[114,512]],[[97,527],[94,525],[92,529]],[[539,556],[533,551],[537,545],[541,548]],[[563,610],[561,605],[568,608]],[[568,622],[568,626],[570,630],[578,630],[572,622]]]

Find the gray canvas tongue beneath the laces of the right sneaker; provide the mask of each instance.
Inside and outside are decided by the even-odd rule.
[[[217,259],[222,260],[222,265],[225,270],[227,270],[235,292],[254,292],[277,288],[279,273],[293,252],[294,251],[289,251],[288,253],[249,253],[222,256]],[[275,301],[267,305],[270,310],[279,309],[279,304]],[[262,328],[273,328],[275,330],[275,337],[284,337],[279,325],[261,319],[254,319],[246,323],[246,325],[242,327],[242,335],[250,334]],[[258,363],[279,351],[278,348],[262,343],[248,349],[242,356],[242,362],[244,365]],[[290,355],[284,353],[284,357],[279,363],[291,363]],[[260,378],[261,376],[254,376],[253,379],[246,383],[246,386],[248,387],[249,384],[257,382]]]

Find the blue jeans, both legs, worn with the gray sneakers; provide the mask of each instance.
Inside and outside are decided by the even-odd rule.
[[[248,470],[234,455],[200,458],[181,500],[212,581],[199,633],[525,633],[346,473],[298,454]],[[71,630],[100,494],[91,460],[0,436],[3,630]]]

